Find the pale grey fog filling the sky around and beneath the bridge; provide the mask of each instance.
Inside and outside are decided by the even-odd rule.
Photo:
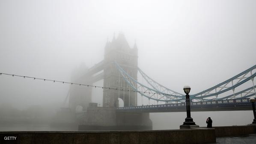
[[[130,47],[136,41],[138,67],[179,93],[190,85],[196,94],[256,64],[255,0],[1,0],[0,72],[71,82],[77,71],[104,59],[106,42],[120,32]],[[103,80],[93,85],[103,86]],[[69,88],[1,75],[0,106],[20,114],[42,108],[47,123],[64,106]],[[102,94],[93,89],[92,102],[102,106]],[[12,112],[1,115],[6,113]],[[249,111],[191,115],[200,126],[211,115],[218,126],[253,120]],[[153,129],[178,129],[185,113],[150,118]],[[168,122],[173,125],[163,124]]]

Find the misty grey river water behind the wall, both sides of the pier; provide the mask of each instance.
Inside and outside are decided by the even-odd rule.
[[[179,129],[185,121],[185,112],[151,113],[153,129]],[[213,126],[247,125],[253,121],[252,111],[191,112],[191,117],[199,126],[206,126],[206,118],[211,117]],[[50,126],[50,124],[0,124],[0,131],[76,131],[77,126]]]

